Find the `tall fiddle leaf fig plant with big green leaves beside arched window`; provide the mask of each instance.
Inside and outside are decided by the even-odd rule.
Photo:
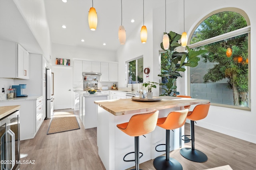
[[[161,48],[165,50],[166,53],[162,53],[161,74],[158,74],[158,76],[162,77],[162,82],[159,85],[162,86],[164,90],[164,93],[160,96],[171,96],[172,92],[175,92],[174,90],[177,88],[175,85],[176,79],[182,77],[180,72],[186,71],[184,66],[196,67],[198,61],[200,61],[200,57],[198,56],[207,53],[206,50],[194,51],[188,46],[186,46],[188,53],[177,52],[175,49],[181,46],[180,43],[178,43],[181,35],[172,31],[167,34],[170,41],[169,49],[165,50],[163,43],[161,43]],[[179,92],[175,92],[175,94],[179,94]]]

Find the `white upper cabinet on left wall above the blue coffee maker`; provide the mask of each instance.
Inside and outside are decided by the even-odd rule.
[[[29,53],[18,43],[0,40],[0,77],[29,79]]]

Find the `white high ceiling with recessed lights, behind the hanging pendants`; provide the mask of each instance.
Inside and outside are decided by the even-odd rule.
[[[112,51],[120,47],[118,27],[121,25],[121,0],[93,1],[98,16],[96,31],[91,31],[88,25],[88,11],[92,7],[92,0],[67,0],[66,3],[62,0],[44,1],[53,43]],[[144,14],[158,6],[164,6],[164,0],[145,0]],[[135,20],[134,23],[131,22],[132,19]],[[122,0],[122,25],[126,29],[126,38],[134,29],[139,28],[135,31],[140,31],[142,21],[143,0]],[[62,25],[67,28],[63,29]],[[85,41],[81,42],[81,39]]]

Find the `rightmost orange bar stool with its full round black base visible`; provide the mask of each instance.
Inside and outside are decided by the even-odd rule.
[[[204,119],[208,115],[208,111],[210,108],[210,103],[208,104],[199,104],[197,105],[193,111],[188,112],[187,119],[190,119],[190,134],[191,134],[191,148],[182,148],[180,149],[180,154],[194,162],[206,162],[207,156],[200,150],[195,149],[195,130],[194,130],[194,121]]]

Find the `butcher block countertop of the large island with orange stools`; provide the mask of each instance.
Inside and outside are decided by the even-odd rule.
[[[102,107],[113,115],[125,115],[131,113],[143,113],[152,110],[169,109],[172,107],[182,107],[193,104],[205,104],[209,100],[180,98],[172,96],[159,96],[160,101],[155,102],[141,102],[132,99],[118,99],[118,100],[101,100],[94,101],[95,104]]]

